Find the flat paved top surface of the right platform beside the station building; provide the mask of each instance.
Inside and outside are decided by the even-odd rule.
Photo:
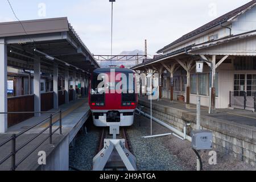
[[[150,102],[147,96],[141,96],[139,97],[139,100]],[[152,103],[172,107],[179,110],[189,111],[190,113],[196,114],[195,104],[190,104],[190,107],[188,108],[184,102],[169,101],[165,99],[161,99],[159,101],[152,100]],[[225,121],[239,123],[241,125],[256,126],[256,113],[252,111],[240,109],[216,109],[216,111],[216,114],[209,114],[208,107],[201,106],[201,115],[205,117],[223,119]]]

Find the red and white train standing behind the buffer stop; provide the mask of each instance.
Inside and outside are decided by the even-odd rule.
[[[126,77],[123,78],[120,75]],[[99,87],[102,82],[104,86]],[[95,126],[106,127],[113,123],[118,123],[119,126],[133,125],[134,112],[138,103],[135,83],[135,72],[123,66],[98,68],[93,71],[89,83],[89,106]],[[120,84],[122,86],[118,86]],[[123,92],[123,85],[127,85],[127,89],[125,88],[127,92]]]

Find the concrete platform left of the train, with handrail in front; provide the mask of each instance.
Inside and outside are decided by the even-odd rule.
[[[25,171],[34,171],[40,170],[40,166],[38,164],[38,152],[45,151],[47,157],[50,156],[53,152],[59,152],[58,157],[63,157],[65,159],[68,158],[68,146],[69,143],[75,138],[78,131],[84,125],[85,121],[90,116],[90,108],[88,105],[87,98],[79,98],[76,101],[72,101],[69,104],[61,105],[59,110],[62,111],[62,135],[59,134],[59,130],[56,131],[55,134],[52,136],[52,144],[49,144],[49,140],[47,139],[40,147],[38,147],[24,162],[20,163],[20,165],[16,168],[16,170],[25,170]],[[55,109],[49,111],[57,111]],[[12,126],[8,129],[5,134],[0,134],[0,143],[4,142],[7,138],[11,137],[13,134],[18,134],[21,131],[24,131],[35,125],[36,123],[43,121],[47,117],[49,117],[50,113],[44,113],[40,117],[33,117],[27,119],[24,122],[19,123],[18,125]],[[58,118],[53,117],[53,123],[57,121]],[[22,146],[23,143],[26,143],[31,138],[35,137],[41,131],[46,129],[49,126],[49,121],[46,120],[45,122],[41,123],[39,126],[27,131],[26,133],[22,134],[20,137],[16,139],[16,148]],[[55,131],[59,127],[58,122],[53,125],[52,131]],[[35,146],[38,145],[42,140],[49,136],[49,129],[44,131],[43,134],[39,135],[35,140],[31,143],[28,143],[24,148],[16,154],[16,163],[19,162],[24,156],[28,154]],[[62,149],[61,149],[62,148]],[[60,151],[63,150],[63,151]],[[0,161],[5,158],[11,152],[11,142],[5,144],[4,146],[0,147]],[[48,161],[49,162],[49,161]],[[51,167],[45,170],[50,169],[59,169],[59,170],[67,170],[68,160],[63,160],[59,162],[51,162]],[[54,164],[56,163],[56,164]],[[56,166],[58,166],[56,168]],[[66,168],[62,168],[62,167]],[[11,158],[6,160],[5,163],[0,165],[0,171],[9,171],[11,168]]]

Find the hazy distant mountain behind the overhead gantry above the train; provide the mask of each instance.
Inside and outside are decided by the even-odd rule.
[[[134,55],[144,55],[144,51],[141,51],[139,49],[135,49],[134,51],[122,51],[119,53],[119,57],[114,57],[112,61],[99,61],[98,63],[101,65],[101,67],[109,67],[109,65],[116,65],[116,66],[121,66],[124,65],[126,68],[133,67],[134,65],[137,64],[137,58],[133,57]],[[129,56],[131,55],[131,56]],[[126,57],[121,57],[121,56],[127,56]],[[153,57],[151,55],[147,55],[148,59],[152,59]],[[119,60],[117,60],[119,59]],[[127,60],[126,60],[127,59]],[[131,59],[131,60],[129,60]],[[144,57],[139,57],[139,64],[142,63]]]

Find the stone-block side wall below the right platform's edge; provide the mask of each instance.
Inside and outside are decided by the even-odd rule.
[[[144,106],[143,111],[150,113],[150,102],[139,100],[139,104]],[[191,123],[187,130],[188,135],[190,135],[191,130],[196,129],[196,114],[189,111],[152,104],[152,114],[180,131],[183,131],[186,123]],[[233,155],[235,158],[255,166],[255,127],[204,116],[201,116],[201,126],[205,130],[213,131],[214,150]]]

